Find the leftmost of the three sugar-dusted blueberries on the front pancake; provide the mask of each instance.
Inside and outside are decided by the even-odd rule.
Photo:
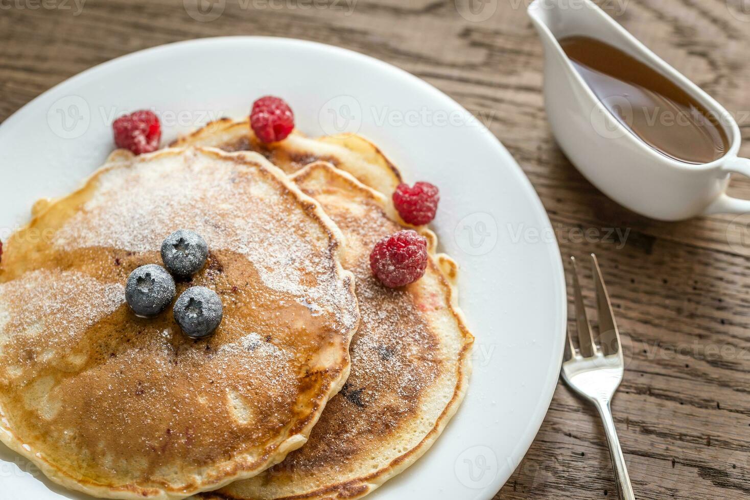
[[[162,266],[147,264],[130,273],[125,284],[127,305],[139,316],[156,316],[175,298],[175,280]]]

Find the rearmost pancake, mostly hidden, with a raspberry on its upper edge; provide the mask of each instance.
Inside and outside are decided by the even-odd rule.
[[[256,151],[287,174],[324,160],[352,174],[365,186],[382,192],[389,200],[401,183],[398,169],[380,149],[355,134],[308,138],[295,130],[283,141],[263,144],[256,138],[248,120],[223,118],[172,142],[172,146],[177,147],[190,145],[218,147],[225,151]]]

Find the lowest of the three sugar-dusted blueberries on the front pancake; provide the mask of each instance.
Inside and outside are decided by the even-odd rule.
[[[214,290],[190,287],[175,302],[175,320],[188,337],[208,337],[221,323],[223,306]]]

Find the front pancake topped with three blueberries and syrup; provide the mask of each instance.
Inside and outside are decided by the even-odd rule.
[[[359,323],[341,232],[256,153],[113,156],[37,207],[0,262],[0,439],[53,481],[181,499],[305,443],[350,370]],[[178,228],[208,242],[188,286],[223,322],[196,341],[168,309],[136,317],[127,275]]]

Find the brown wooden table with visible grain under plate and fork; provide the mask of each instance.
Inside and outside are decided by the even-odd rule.
[[[317,40],[420,76],[508,147],[541,196],[562,253],[598,254],[628,349],[613,409],[637,497],[748,498],[750,248],[730,226],[734,217],[655,222],[578,174],[545,121],[541,45],[527,0],[471,0],[474,10],[469,0],[354,1],[303,8],[310,1],[226,0],[218,19],[197,22],[181,1],[88,0],[78,10],[74,0],[36,9],[35,0],[1,0],[0,119],[118,55],[215,35]],[[740,1],[598,3],[736,116],[741,153],[750,156],[750,13],[742,16]],[[733,180],[730,193],[750,198],[750,181]],[[580,241],[590,228],[599,236]],[[608,228],[627,231],[624,245],[604,238]],[[616,493],[598,417],[559,385],[537,439],[496,499],[604,497]]]

